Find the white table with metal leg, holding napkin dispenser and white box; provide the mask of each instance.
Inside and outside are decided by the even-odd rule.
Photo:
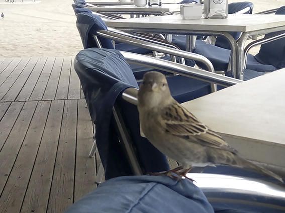
[[[244,47],[249,36],[285,30],[285,15],[229,14],[227,19],[183,20],[180,15],[112,20],[107,26],[121,30],[184,35],[222,35],[232,48],[232,70],[243,79]],[[242,32],[237,43],[228,32]]]

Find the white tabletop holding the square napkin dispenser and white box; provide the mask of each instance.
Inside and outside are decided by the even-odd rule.
[[[250,32],[285,26],[285,15],[229,14],[227,19],[184,20],[180,15],[143,17],[135,19],[112,20],[106,22],[109,27],[147,28],[168,30],[201,31],[240,31]]]

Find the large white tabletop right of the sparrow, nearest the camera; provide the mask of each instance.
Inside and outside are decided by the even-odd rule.
[[[285,167],[285,69],[183,104],[245,157]]]

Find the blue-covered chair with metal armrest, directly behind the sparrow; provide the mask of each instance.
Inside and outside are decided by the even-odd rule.
[[[156,69],[160,66],[161,70],[179,73],[187,78],[201,80],[200,73],[203,73],[208,82],[217,83],[216,79],[222,79],[225,82],[222,83],[223,86],[242,82],[175,62],[149,56],[138,58],[138,54],[128,52],[123,54],[131,63],[145,64]],[[169,169],[165,156],[140,136],[137,108],[122,96],[127,88],[138,88],[133,72],[122,54],[115,49],[85,49],[77,54],[74,68],[79,76],[92,121],[96,125],[96,143],[105,169],[105,178]],[[173,77],[175,76],[170,78]],[[189,79],[197,81],[192,78]],[[116,129],[119,133],[116,133]],[[121,135],[121,144],[118,135]],[[132,145],[129,144],[130,141]],[[122,144],[127,144],[125,146],[128,147],[122,148]],[[132,147],[137,158],[132,156],[128,160],[124,153],[131,152]]]

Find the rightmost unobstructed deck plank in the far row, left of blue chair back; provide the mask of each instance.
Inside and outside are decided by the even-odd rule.
[[[55,99],[67,99],[72,57],[64,57]]]

